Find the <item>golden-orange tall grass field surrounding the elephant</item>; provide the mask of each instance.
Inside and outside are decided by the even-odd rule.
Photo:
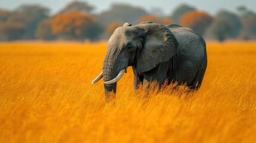
[[[133,91],[106,104],[106,42],[0,43],[0,142],[256,142],[256,42],[206,42],[199,91]]]

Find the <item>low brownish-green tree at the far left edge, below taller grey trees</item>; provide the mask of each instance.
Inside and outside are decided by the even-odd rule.
[[[0,23],[0,41],[21,39],[25,30],[21,23]]]

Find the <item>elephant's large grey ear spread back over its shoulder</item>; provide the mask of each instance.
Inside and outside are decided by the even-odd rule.
[[[140,24],[137,27],[147,33],[144,35],[144,47],[137,60],[138,73],[149,71],[174,56],[178,41],[167,27],[156,23]],[[139,35],[141,31],[143,30],[140,30]]]

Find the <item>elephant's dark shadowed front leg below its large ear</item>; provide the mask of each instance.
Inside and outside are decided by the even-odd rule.
[[[169,69],[168,62],[169,61],[158,64],[158,66],[156,66],[154,69],[143,73],[143,75],[144,75],[143,89],[144,90],[147,91],[147,89],[149,88],[150,82],[158,83],[159,89],[161,88],[162,84],[164,83],[166,73]]]

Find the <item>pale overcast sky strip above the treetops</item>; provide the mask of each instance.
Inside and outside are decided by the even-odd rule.
[[[51,9],[51,13],[56,13],[67,3],[72,0],[0,0],[0,8],[6,10],[13,10],[21,4],[41,4]],[[85,1],[85,0],[80,0]],[[198,10],[207,11],[210,14],[216,14],[220,9],[226,9],[230,11],[236,11],[236,7],[239,5],[245,5],[248,9],[254,10],[256,1],[255,0],[88,0],[86,1],[90,5],[96,7],[95,12],[107,10],[113,2],[125,2],[131,5],[137,5],[151,10],[152,7],[159,7],[165,14],[170,14],[175,7],[182,3],[190,4],[196,7]]]

